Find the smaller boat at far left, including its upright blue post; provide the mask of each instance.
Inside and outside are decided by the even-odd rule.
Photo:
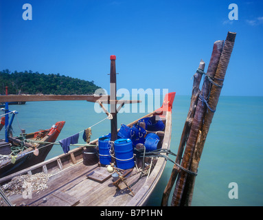
[[[20,93],[19,93],[20,94]],[[5,177],[34,164],[43,162],[51,151],[54,142],[63,128],[65,122],[56,122],[51,129],[39,130],[34,133],[21,131],[19,137],[12,136],[12,122],[17,111],[10,111],[10,104],[25,104],[25,100],[9,100],[8,87],[5,87],[5,96],[8,98],[3,104],[4,116],[1,117],[0,131],[5,126],[5,139],[0,139],[0,177]],[[11,118],[9,118],[11,116]],[[41,141],[45,143],[29,143],[27,141]],[[33,153],[34,151],[34,153]]]

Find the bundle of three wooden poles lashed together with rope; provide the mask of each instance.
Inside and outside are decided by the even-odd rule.
[[[236,33],[228,32],[225,43],[216,41],[207,73],[204,72],[205,63],[201,60],[194,74],[190,109],[185,120],[175,165],[163,192],[161,206],[168,206],[170,191],[175,181],[171,206],[191,206],[198,164],[216,111],[235,39]],[[205,74],[205,80],[200,90],[199,85],[203,74]]]

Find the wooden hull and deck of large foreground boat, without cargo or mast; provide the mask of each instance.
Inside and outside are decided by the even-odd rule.
[[[0,184],[7,184],[14,177],[28,174],[34,176],[45,173],[48,176],[47,188],[32,192],[32,199],[23,195],[10,196],[10,201],[16,206],[143,206],[157,185],[167,161],[165,155],[170,148],[174,95],[175,93],[166,94],[160,109],[127,124],[132,128],[144,118],[155,116],[165,127],[162,131],[146,130],[147,134],[156,133],[159,136],[160,148],[153,152],[141,151],[139,156],[134,157],[134,168],[122,170],[114,167],[119,179],[113,179],[108,167],[102,166],[100,162],[94,164],[93,157],[83,158],[85,149],[99,150],[97,139],[88,146],[79,146],[67,154],[3,177]],[[141,123],[144,126],[144,122]],[[142,157],[144,153],[146,156]],[[145,164],[142,164],[143,160]]]

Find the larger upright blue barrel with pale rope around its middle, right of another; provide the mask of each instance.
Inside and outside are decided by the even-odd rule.
[[[130,139],[117,139],[114,143],[114,151],[117,168],[126,170],[133,168],[133,144]]]

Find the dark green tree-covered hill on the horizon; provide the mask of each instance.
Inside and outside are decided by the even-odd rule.
[[[8,94],[54,94],[54,95],[82,95],[93,94],[99,89],[93,81],[80,80],[60,74],[39,74],[38,72],[10,72],[5,69],[0,72],[0,83],[5,94],[5,87],[8,87]]]

